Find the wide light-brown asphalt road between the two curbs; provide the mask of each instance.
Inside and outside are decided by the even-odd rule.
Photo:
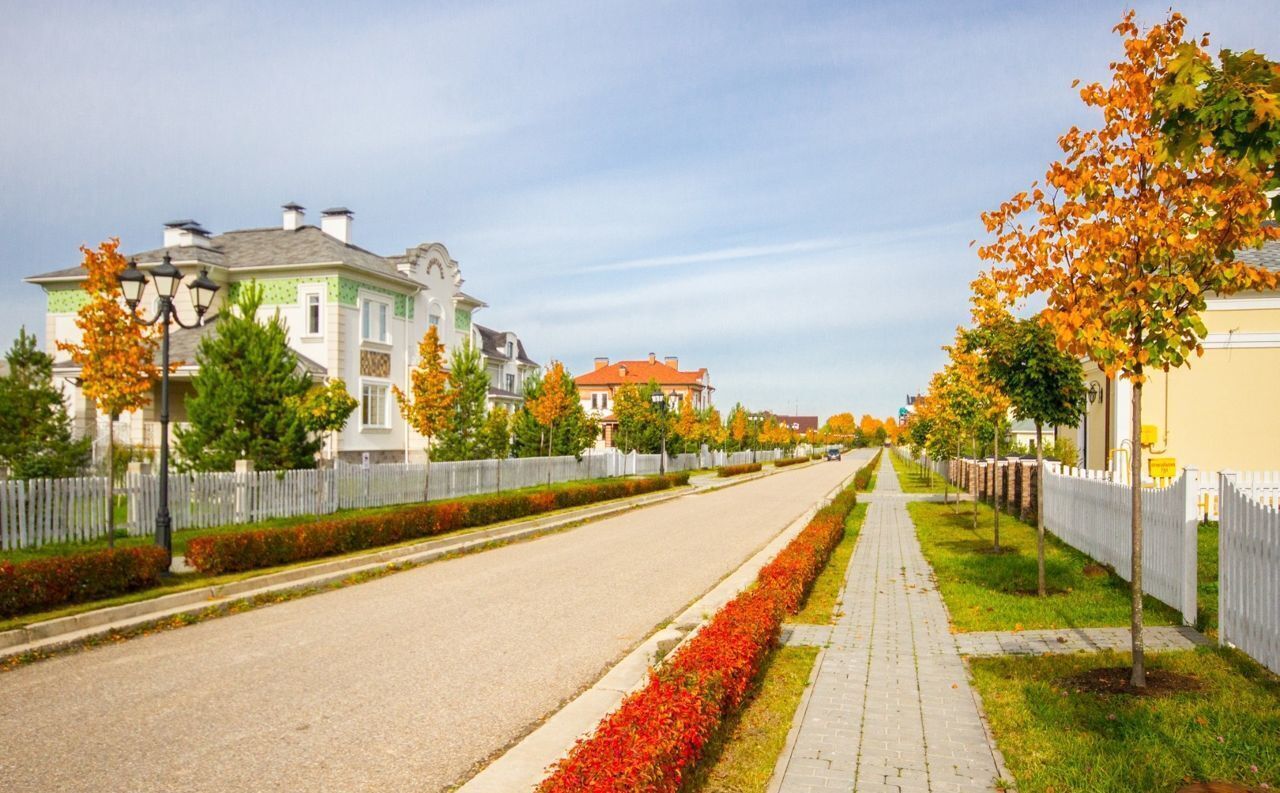
[[[445,789],[855,467],[846,455],[0,674],[0,790]]]

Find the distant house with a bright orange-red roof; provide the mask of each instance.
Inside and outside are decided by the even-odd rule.
[[[617,391],[623,385],[644,386],[657,382],[672,411],[678,411],[685,402],[690,402],[696,411],[709,408],[716,390],[705,368],[682,371],[678,357],[668,356],[659,361],[655,353],[649,353],[645,359],[616,363],[611,363],[608,358],[596,358],[595,368],[579,375],[573,382],[577,385],[582,409],[600,422],[596,446],[602,448],[614,445],[613,434],[618,428],[618,420],[613,414],[613,405]]]

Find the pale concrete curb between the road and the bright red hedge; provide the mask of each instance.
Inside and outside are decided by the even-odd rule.
[[[788,468],[805,467],[788,466]],[[841,480],[836,487],[787,524],[764,547],[672,619],[668,627],[649,636],[639,647],[614,664],[594,686],[571,700],[534,732],[525,735],[462,784],[457,789],[458,793],[513,793],[536,788],[547,776],[547,770],[552,764],[563,757],[579,738],[594,732],[596,725],[617,709],[626,695],[648,682],[649,668],[659,655],[669,657],[681,645],[696,636],[712,615],[755,581],[760,568],[772,561],[809,524],[820,506],[828,504],[836,494],[852,482],[855,475],[856,472]]]

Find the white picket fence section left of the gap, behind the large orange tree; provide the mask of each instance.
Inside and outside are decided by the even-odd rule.
[[[1132,490],[1101,471],[1044,467],[1044,528],[1129,581]],[[1142,588],[1196,624],[1199,475],[1187,468],[1164,487],[1142,489]]]

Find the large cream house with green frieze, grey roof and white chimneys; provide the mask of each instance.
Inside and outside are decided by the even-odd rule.
[[[129,256],[146,272],[169,255],[184,280],[207,269],[220,287],[201,327],[170,330],[170,359],[180,362],[170,375],[174,422],[187,418],[183,402],[196,373],[200,338],[216,330],[227,302],[248,283],[264,293],[260,318],[278,312],[284,321],[300,367],[317,382],[340,377],[360,402],[347,426],[329,440],[326,457],[357,463],[422,459],[425,439],[401,417],[392,388],[407,389],[419,342],[433,325],[447,354],[466,342],[481,350],[492,377],[490,404],[518,405],[522,390],[503,388],[511,382],[507,375],[518,384],[539,367],[516,334],[497,334],[493,338],[500,343],[492,344],[493,331],[476,325],[474,315],[486,304],[462,290],[462,271],[448,249],[431,242],[403,253],[372,253],[352,242],[353,219],[353,212],[337,207],[323,212],[319,226],[310,225],[305,208],[288,203],[280,224],[270,228],[211,234],[193,220],[178,220],[165,224],[161,247]],[[84,270],[74,266],[26,280],[45,290],[45,339],[77,431],[105,437],[106,418],[95,414],[74,384],[78,371],[56,349],[56,342],[79,342],[76,312],[88,299],[83,279]],[[156,302],[148,283],[143,311]],[[175,304],[184,321],[196,318],[187,289],[179,289]],[[508,345],[515,356],[507,354]],[[152,405],[157,400],[159,384]],[[157,411],[148,407],[123,416],[116,440],[157,445]]]

